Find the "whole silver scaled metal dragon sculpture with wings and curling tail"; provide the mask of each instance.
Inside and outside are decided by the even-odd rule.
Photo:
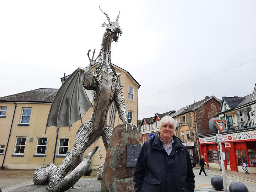
[[[64,81],[49,111],[46,128],[56,126],[58,132],[60,127],[69,126],[70,128],[70,126],[79,119],[82,123],[84,114],[90,107],[93,108],[89,120],[86,123],[82,123],[78,129],[75,136],[74,148],[66,156],[62,164],[58,168],[48,166],[46,169],[43,169],[46,170],[46,175],[48,174],[47,177],[44,178],[46,182],[49,182],[46,189],[47,192],[65,191],[74,186],[89,168],[87,167],[85,169],[85,165],[88,164],[91,156],[97,150],[97,147],[81,162],[82,154],[98,138],[102,137],[107,150],[112,135],[112,127],[107,124],[107,114],[110,108],[113,108],[112,106],[114,104],[118,111],[119,118],[126,125],[126,131],[127,125],[130,125],[132,130],[134,126],[138,131],[138,128],[134,124],[128,123],[122,91],[123,87],[122,84],[118,82],[118,75],[111,64],[111,43],[113,41],[117,42],[119,35],[121,36],[122,34],[118,23],[120,11],[116,22],[111,22],[105,12],[103,12],[103,14],[106,15],[108,24],[105,22],[102,24],[103,27],[106,27],[106,30],[103,34],[100,54],[94,60],[95,49],[92,59],[89,56],[91,50],[88,51],[87,55],[90,60],[90,65],[87,68],[78,68]],[[92,67],[96,64],[97,59],[98,64],[93,72]],[[93,98],[92,102],[90,101],[90,91]],[[113,126],[113,123],[111,123],[111,125]],[[72,168],[73,171],[66,176]],[[98,178],[101,177],[100,172],[102,172],[102,169],[103,165],[100,166],[100,171],[98,170]],[[40,179],[38,179],[42,173],[42,169],[38,169],[36,172],[33,177],[34,183],[42,183]],[[54,172],[54,174],[52,174],[52,172]]]

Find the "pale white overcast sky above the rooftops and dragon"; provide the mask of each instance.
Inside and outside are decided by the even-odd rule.
[[[193,98],[253,92],[254,0],[1,0],[0,97],[59,88],[64,72],[89,65],[87,51],[98,53],[107,22],[98,5],[111,21],[121,10],[123,34],[112,43],[112,63],[141,85],[139,119],[177,111]]]

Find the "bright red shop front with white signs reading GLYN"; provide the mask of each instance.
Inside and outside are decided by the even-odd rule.
[[[204,156],[207,167],[219,168],[220,150],[216,134],[197,137],[200,154]],[[226,170],[245,172],[245,162],[249,173],[256,173],[256,128],[237,129],[223,132],[222,152]]]

